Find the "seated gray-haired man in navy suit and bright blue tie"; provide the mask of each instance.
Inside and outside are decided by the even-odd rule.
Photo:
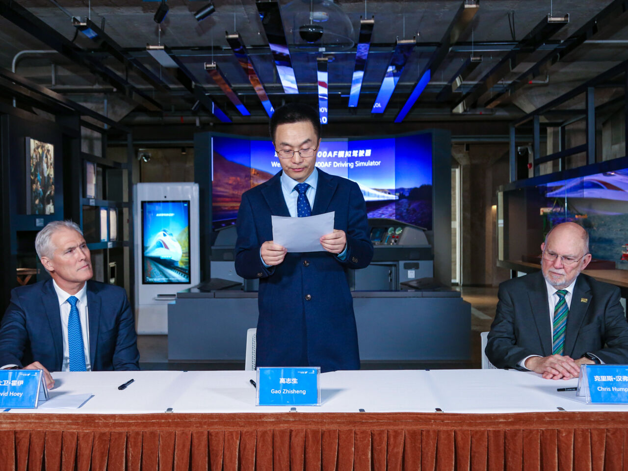
[[[52,279],[19,286],[0,324],[0,366],[50,371],[139,369],[133,311],[119,286],[92,281],[83,233],[53,221],[35,249]]]

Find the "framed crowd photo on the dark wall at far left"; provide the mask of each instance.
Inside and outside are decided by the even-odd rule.
[[[26,138],[26,214],[55,213],[55,146]]]

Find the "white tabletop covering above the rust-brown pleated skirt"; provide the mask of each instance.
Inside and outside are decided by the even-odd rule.
[[[62,394],[92,393],[78,409],[36,409],[40,413],[134,414],[283,413],[288,406],[256,406],[249,382],[254,371],[55,372],[51,401]],[[133,378],[126,389],[117,387]],[[577,379],[552,381],[533,372],[506,370],[335,371],[321,375],[322,405],[299,412],[521,413],[628,411],[626,405],[586,404],[575,391]],[[50,403],[49,405],[53,405]],[[32,413],[10,409],[8,413]]]

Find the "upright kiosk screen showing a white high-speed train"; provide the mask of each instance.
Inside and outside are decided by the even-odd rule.
[[[142,282],[190,283],[190,202],[142,202]]]

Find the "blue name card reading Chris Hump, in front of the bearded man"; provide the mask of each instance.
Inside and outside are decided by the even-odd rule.
[[[582,365],[578,396],[587,404],[628,403],[628,365]]]

